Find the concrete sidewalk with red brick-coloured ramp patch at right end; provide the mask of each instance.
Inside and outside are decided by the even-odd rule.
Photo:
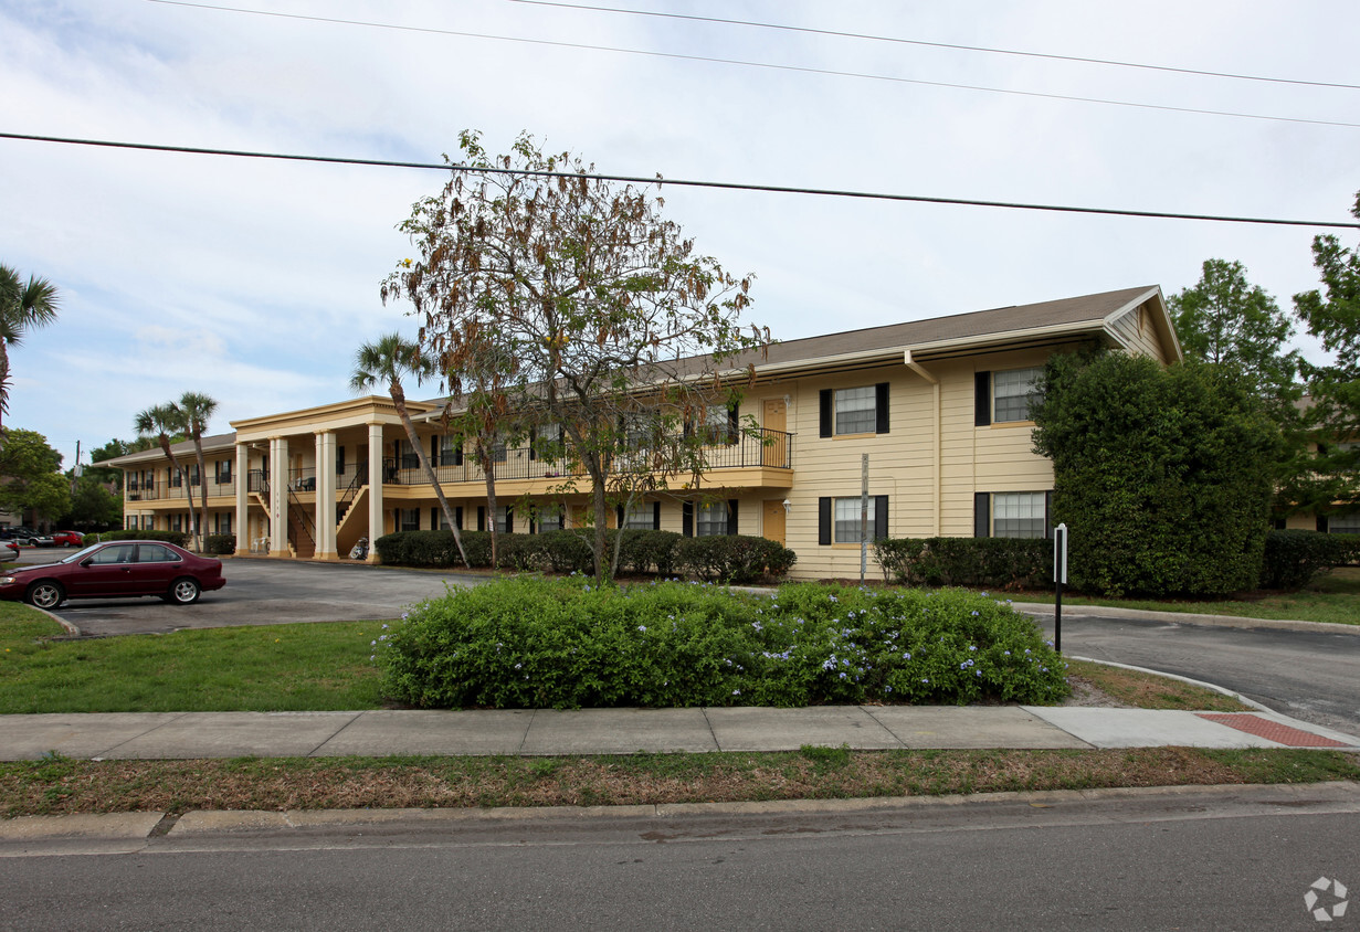
[[[1274,712],[1091,706],[827,705],[804,709],[165,712],[0,716],[0,759],[782,751],[1318,747],[1360,738]]]

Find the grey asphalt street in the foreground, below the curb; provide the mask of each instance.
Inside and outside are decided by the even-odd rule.
[[[0,927],[1344,929],[1353,910],[1319,922],[1306,894],[1360,893],[1360,800],[1336,787],[468,815],[171,831],[125,853],[14,842]]]

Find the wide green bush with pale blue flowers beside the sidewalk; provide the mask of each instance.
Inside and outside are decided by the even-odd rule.
[[[1053,702],[1027,617],[957,590],[505,579],[411,609],[374,644],[390,698],[437,708]]]

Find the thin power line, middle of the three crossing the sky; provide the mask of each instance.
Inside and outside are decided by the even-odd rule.
[[[947,87],[960,91],[981,91],[985,94],[1009,94],[1012,96],[1042,98],[1046,101],[1068,101],[1072,103],[1099,103],[1115,107],[1133,107],[1137,110],[1166,110],[1168,113],[1191,113],[1202,117],[1231,117],[1235,120],[1266,120],[1272,122],[1308,124],[1314,126],[1345,126],[1360,129],[1360,124],[1344,122],[1340,120],[1307,120],[1303,117],[1278,117],[1262,113],[1240,113],[1235,110],[1205,110],[1200,107],[1175,107],[1164,103],[1136,103],[1133,101],[1115,101],[1112,98],[1080,96],[1073,94],[1046,94],[1042,91],[1017,91],[1008,87],[986,87],[982,84],[959,84],[953,82],[932,82],[919,77],[894,77],[891,75],[872,75],[857,71],[838,71],[834,68],[812,68],[808,65],[778,65],[768,61],[747,61],[744,58],[719,58],[715,56],[681,54],[679,52],[647,52],[643,49],[624,49],[612,45],[592,45],[586,42],[562,42],[556,39],[530,39],[520,35],[495,35],[491,33],[469,33],[452,29],[435,29],[431,26],[400,26],[396,23],[378,23],[362,19],[337,19],[333,16],[309,16],[303,14],[282,14],[268,10],[246,10],[242,7],[224,7],[208,3],[188,3],[186,0],[147,0],[166,7],[188,7],[192,10],[214,10],[218,12],[246,14],[254,16],[272,16],[275,19],[298,19],[314,23],[330,23],[335,26],[362,26],[366,29],[386,29],[398,33],[426,33],[431,35],[457,35],[460,38],[492,39],[496,42],[520,42],[524,45],[545,45],[559,49],[585,49],[589,52],[613,52],[617,54],[646,56],[653,58],[670,58],[673,61],[700,61],[704,64],[737,65],[741,68],[762,68],[766,71],[789,71],[802,75],[824,75],[828,77],[854,77],[870,82],[887,82],[892,84],[917,84],[921,87]]]

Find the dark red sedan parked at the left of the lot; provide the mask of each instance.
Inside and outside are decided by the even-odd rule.
[[[159,595],[192,605],[203,591],[227,584],[222,561],[162,541],[109,541],[42,567],[15,567],[0,576],[0,599],[56,609],[67,599]]]

